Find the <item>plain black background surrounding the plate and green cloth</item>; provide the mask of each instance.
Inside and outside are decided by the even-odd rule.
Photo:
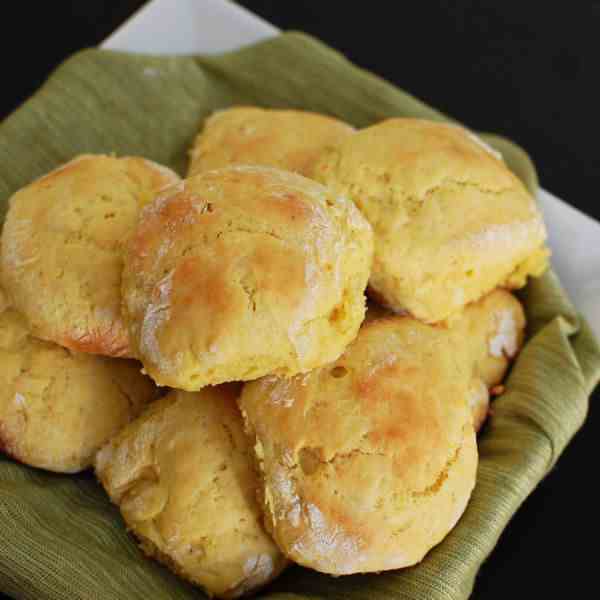
[[[99,43],[142,4],[3,3],[0,119],[57,63]],[[282,29],[321,38],[474,129],[514,139],[534,158],[545,188],[600,219],[600,2],[241,4]],[[598,597],[598,427],[592,414],[514,517],[484,564],[473,598]],[[2,532],[0,543],[10,543]]]

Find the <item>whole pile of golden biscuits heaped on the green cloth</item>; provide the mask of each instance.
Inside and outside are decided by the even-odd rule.
[[[77,157],[10,200],[0,449],[93,466],[210,595],[414,565],[467,506],[545,239],[451,124],[235,107],[184,180]]]

